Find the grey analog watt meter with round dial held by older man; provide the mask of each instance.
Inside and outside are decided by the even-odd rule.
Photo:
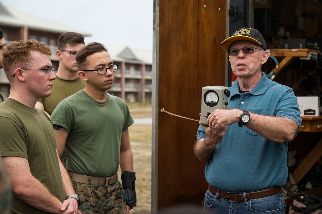
[[[227,109],[229,90],[226,86],[204,86],[201,90],[201,123],[207,124],[207,118],[216,109]]]

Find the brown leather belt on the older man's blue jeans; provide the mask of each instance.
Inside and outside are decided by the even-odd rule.
[[[213,193],[214,195],[217,194],[217,189],[214,188],[212,185],[209,184],[208,186],[209,192]],[[275,195],[281,191],[281,187],[273,187],[267,190],[261,190],[256,192],[246,192],[246,200],[256,199],[256,198],[264,198],[267,196]],[[243,193],[237,192],[223,192],[219,190],[219,197],[227,199],[230,202],[237,202],[237,201],[244,201]]]

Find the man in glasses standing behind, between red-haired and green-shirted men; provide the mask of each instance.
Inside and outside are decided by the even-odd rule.
[[[65,32],[58,37],[56,57],[59,59],[59,67],[53,81],[52,95],[42,97],[36,103],[36,108],[45,111],[49,118],[59,102],[85,88],[85,82],[78,76],[76,63],[77,51],[84,46],[84,36],[80,33]],[[60,158],[66,166],[66,152]]]

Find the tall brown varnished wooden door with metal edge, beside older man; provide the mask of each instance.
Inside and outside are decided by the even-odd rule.
[[[201,89],[225,86],[226,0],[154,0],[152,211],[200,204],[206,162],[193,152]],[[161,112],[161,109],[194,120]]]

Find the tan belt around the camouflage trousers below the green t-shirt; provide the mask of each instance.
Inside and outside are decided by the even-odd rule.
[[[70,172],[69,174],[71,176],[71,181],[78,183],[88,183],[89,185],[108,186],[118,181],[118,174],[112,175],[110,177],[93,177],[72,172]]]

